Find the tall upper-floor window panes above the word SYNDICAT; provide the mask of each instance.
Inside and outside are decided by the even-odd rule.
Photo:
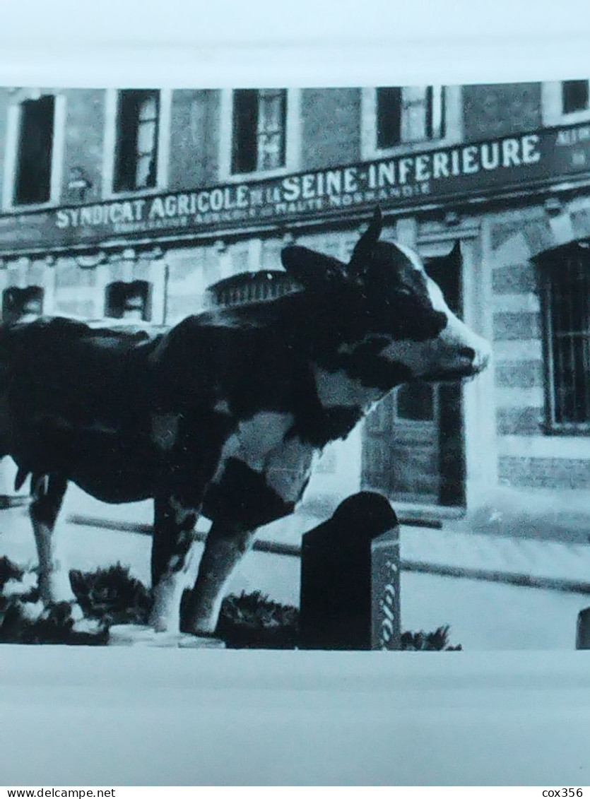
[[[128,89],[119,93],[114,191],[153,189],[157,185],[160,93]]]

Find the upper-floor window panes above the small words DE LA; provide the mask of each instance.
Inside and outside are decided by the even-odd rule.
[[[233,92],[233,174],[285,166],[286,89]]]

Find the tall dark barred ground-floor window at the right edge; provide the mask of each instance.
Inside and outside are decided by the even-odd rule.
[[[590,242],[540,259],[545,278],[548,422],[590,432]]]

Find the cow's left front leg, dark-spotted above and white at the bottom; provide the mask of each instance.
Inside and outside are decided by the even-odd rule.
[[[174,496],[154,502],[152,544],[153,605],[149,624],[157,632],[180,630],[182,593],[189,587],[197,511]]]

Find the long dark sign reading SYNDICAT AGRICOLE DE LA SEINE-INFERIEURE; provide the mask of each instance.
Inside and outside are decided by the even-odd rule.
[[[90,247],[134,237],[206,235],[384,209],[453,204],[590,177],[590,125],[333,169],[0,217],[0,251]]]

